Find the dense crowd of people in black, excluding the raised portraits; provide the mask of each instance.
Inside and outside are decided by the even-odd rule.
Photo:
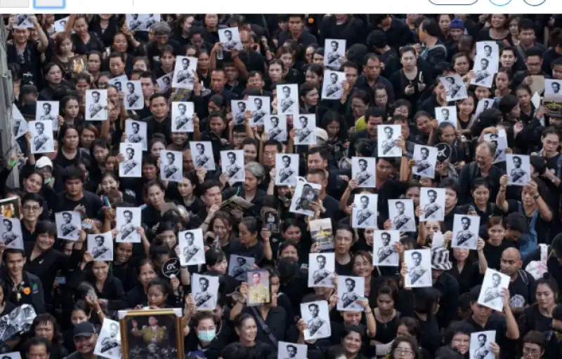
[[[469,353],[479,359],[562,358],[562,117],[556,116],[556,106],[532,100],[544,90],[544,79],[562,81],[562,16],[162,14],[144,24],[146,31],[138,30],[143,26],[138,15],[131,22],[118,14],[29,15],[28,27],[16,26],[23,21],[18,15],[4,20],[13,108],[25,121],[34,121],[37,111],[44,111],[37,108],[41,101],[60,106],[52,121],[54,150],[36,153],[32,145],[37,142],[25,133],[13,147],[18,155],[4,158],[0,170],[2,198],[17,198],[11,212],[20,220],[15,223],[22,236],[21,248],[11,244],[17,241],[8,243],[4,234],[13,231],[14,222],[4,222],[0,323],[25,304],[37,314],[30,330],[0,344],[3,353],[93,359],[104,320],[118,321],[119,311],[148,307],[183,310],[183,351],[192,358],[274,358],[282,343],[292,343],[286,355],[296,359],[468,358]],[[55,29],[60,20],[62,28]],[[233,28],[240,48],[219,41],[221,29]],[[339,40],[346,47],[336,69],[344,74],[341,92],[334,100],[323,99],[325,64],[337,60],[328,53],[341,50]],[[471,84],[479,41],[499,48],[490,87]],[[196,69],[186,75],[192,77],[192,89],[157,83],[174,73],[178,56],[197,59]],[[450,88],[440,79],[455,75],[463,79],[466,97],[448,101]],[[140,81],[142,109],[125,109],[134,88],[112,85],[120,76]],[[339,81],[327,76],[331,79]],[[237,109],[231,108],[233,100],[269,97],[259,108],[281,114],[277,104],[286,99],[278,100],[279,85],[284,92],[298,86],[298,112],[287,116],[283,141],[255,126],[250,111],[235,117]],[[103,121],[85,119],[89,90],[107,90]],[[94,96],[99,100],[100,93]],[[477,114],[485,99],[489,107],[486,102]],[[172,131],[173,102],[185,103],[178,107],[181,116],[193,109],[191,132]],[[438,122],[437,107],[450,109],[452,121]],[[293,124],[303,114],[314,115],[303,116],[308,122],[315,118],[314,144],[295,144]],[[140,178],[119,175],[134,155],[133,149],[119,150],[131,142],[125,126],[131,119],[145,123],[148,137]],[[400,126],[400,136],[391,141],[399,156],[379,156],[377,127],[386,125]],[[139,128],[133,128],[134,136]],[[523,186],[508,185],[514,172],[506,172],[505,161],[495,161],[498,142],[487,139],[499,133],[505,133],[507,154],[529,156],[531,175]],[[209,142],[211,154],[206,156],[201,145],[196,158],[192,141]],[[447,153],[438,155],[433,177],[414,175],[414,149],[438,144],[446,144],[442,152]],[[221,173],[221,152],[227,150],[242,150],[242,182]],[[178,181],[162,180],[169,176],[160,168],[175,161],[161,163],[162,151],[181,152]],[[235,163],[231,154],[225,158]],[[318,186],[318,196],[311,191],[310,198],[303,197],[311,201],[313,215],[290,210],[296,187],[276,185],[281,170],[284,177],[292,174],[275,168],[277,154],[296,155],[280,163],[289,168],[298,161],[299,176]],[[423,156],[426,161],[429,150]],[[365,160],[354,178],[356,157]],[[375,168],[368,170],[372,158]],[[207,170],[209,162],[215,170]],[[16,166],[20,186],[13,188],[6,182]],[[358,182],[370,177],[372,188]],[[444,190],[443,220],[419,221],[424,188],[435,189],[429,192],[431,203]],[[362,197],[367,204],[377,198],[376,220],[368,228],[354,226],[351,218]],[[226,204],[233,198],[250,205],[232,209]],[[389,201],[398,199],[413,202],[414,230],[401,232],[393,245],[398,266],[374,266],[375,232],[396,225]],[[396,207],[403,215],[404,203]],[[130,210],[119,212],[122,208]],[[431,208],[430,215],[438,212]],[[132,226],[131,219],[124,226],[127,236],[136,233],[140,239],[115,241],[123,231],[118,215],[128,219],[136,210],[141,226]],[[70,225],[72,218],[65,214],[70,212],[81,215],[76,241],[60,239],[55,226],[60,213]],[[455,215],[480,218],[475,249],[452,248]],[[330,233],[320,230],[333,238],[331,248],[322,248],[311,234],[317,219],[331,222]],[[462,222],[466,231],[467,219]],[[170,275],[164,264],[185,255],[179,233],[192,230],[202,231],[204,264],[181,266]],[[107,233],[109,240],[102,236]],[[443,235],[443,243],[433,243],[436,234]],[[96,235],[94,253],[86,245],[91,235]],[[388,245],[391,236],[384,241]],[[406,280],[405,251],[419,250],[412,255],[417,265],[426,249],[431,250],[430,283],[412,288],[406,285],[412,278]],[[107,251],[112,259],[98,259]],[[335,258],[332,283],[309,286],[309,259],[316,256],[324,269],[329,253]],[[254,264],[248,266],[247,258]],[[248,269],[268,273],[265,304],[251,305],[257,299],[249,296]],[[509,290],[497,294],[500,311],[478,301],[490,269],[509,276]],[[211,283],[208,277],[218,278],[211,310],[197,310],[196,274],[204,276],[198,280],[203,292]],[[344,282],[342,300],[353,304],[353,311],[340,310],[339,276],[362,278]],[[364,297],[355,294],[358,287]],[[301,304],[311,302],[325,302],[329,318],[320,319],[322,305],[309,304],[312,318],[303,320]],[[326,337],[305,339],[325,322]],[[112,330],[117,333],[117,327]],[[485,334],[471,341],[471,334],[487,331],[495,332],[492,343],[486,344]],[[156,318],[148,318],[146,327],[133,323],[131,332],[139,342],[145,337],[152,342],[146,348],[130,344],[129,358],[183,358],[173,339],[156,352],[167,335]],[[297,353],[299,344],[306,346],[306,356]]]

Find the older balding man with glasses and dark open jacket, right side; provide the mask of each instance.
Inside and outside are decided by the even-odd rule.
[[[482,177],[488,180],[490,186],[490,198],[496,198],[499,191],[499,178],[505,174],[505,170],[492,165],[495,156],[495,148],[489,142],[481,141],[476,146],[474,161],[466,163],[459,175],[459,203],[470,203],[472,195],[470,192],[472,182]]]

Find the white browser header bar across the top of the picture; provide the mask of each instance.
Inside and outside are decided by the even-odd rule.
[[[509,13],[560,12],[560,0],[276,1],[0,0],[1,13]],[[15,7],[17,6],[17,7]]]

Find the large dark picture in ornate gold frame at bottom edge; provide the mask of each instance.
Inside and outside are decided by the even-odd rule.
[[[119,311],[123,359],[183,359],[181,309]]]

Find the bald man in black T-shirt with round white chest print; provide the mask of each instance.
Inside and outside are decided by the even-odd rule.
[[[507,248],[502,252],[499,271],[509,276],[509,307],[514,314],[535,302],[535,278],[521,269],[521,253],[517,248]]]

